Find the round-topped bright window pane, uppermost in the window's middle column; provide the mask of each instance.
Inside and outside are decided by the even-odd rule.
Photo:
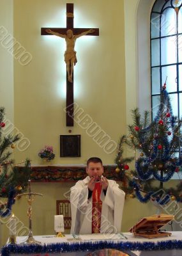
[[[161,17],[161,36],[176,34],[176,12],[172,8],[167,8]]]

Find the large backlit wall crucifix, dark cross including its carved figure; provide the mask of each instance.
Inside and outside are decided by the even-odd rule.
[[[99,35],[98,28],[74,28],[73,4],[66,4],[66,28],[41,28],[41,35],[56,35],[66,40],[66,126],[73,126],[73,65],[77,63],[75,41],[83,35]]]

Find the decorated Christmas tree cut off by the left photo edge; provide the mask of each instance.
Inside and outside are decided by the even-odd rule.
[[[0,203],[0,216],[11,213],[11,205],[15,203],[15,196],[26,190],[27,181],[30,179],[30,161],[26,159],[24,166],[18,168],[13,159],[10,159],[15,143],[20,140],[19,134],[13,136],[3,135],[5,127],[4,108],[0,107],[0,197],[8,198],[7,203]],[[11,150],[10,150],[11,148]]]

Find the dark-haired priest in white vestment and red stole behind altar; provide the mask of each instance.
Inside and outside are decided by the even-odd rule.
[[[119,233],[125,192],[103,177],[102,160],[87,160],[87,177],[71,188],[71,234]]]

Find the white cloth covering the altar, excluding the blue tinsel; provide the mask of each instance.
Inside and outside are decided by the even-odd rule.
[[[40,241],[42,244],[68,244],[69,246],[72,246],[73,243],[79,243],[80,245],[83,243],[98,243],[100,241],[109,241],[109,242],[113,242],[114,244],[116,243],[116,246],[118,243],[120,243],[121,241],[123,243],[128,243],[128,242],[132,242],[132,243],[139,243],[139,244],[143,244],[145,242],[148,243],[159,243],[159,242],[163,242],[163,241],[179,241],[179,243],[182,243],[182,232],[172,232],[172,236],[171,237],[161,237],[161,238],[156,238],[156,239],[146,239],[146,238],[142,238],[142,237],[133,237],[133,235],[131,233],[123,233],[123,235],[127,238],[127,239],[121,239],[121,235],[120,234],[116,234],[116,235],[106,235],[106,234],[93,234],[93,235],[80,235],[80,236],[72,236],[72,235],[66,235],[65,237],[54,237],[54,236],[34,236],[34,239],[36,239],[37,241]],[[17,237],[17,244],[15,246],[20,246],[19,244],[22,242],[25,242],[27,239],[27,237]],[[7,245],[6,245],[7,246]],[[6,247],[4,246],[4,247]],[[126,252],[126,250],[125,250]],[[180,250],[176,250],[175,248],[173,248],[173,250],[153,250],[153,251],[127,251],[130,255],[132,256],[181,256],[182,255],[182,248]],[[7,252],[6,252],[7,253]],[[65,255],[65,256],[86,256],[88,253],[90,253],[90,251],[84,251],[84,252],[80,252],[80,250],[78,252],[61,252],[61,253],[31,253],[31,254],[26,254],[26,253],[12,253],[10,252],[10,254],[8,255],[12,255],[12,256],[57,256],[57,255]],[[7,254],[6,254],[7,255]],[[3,253],[2,253],[2,256]]]

